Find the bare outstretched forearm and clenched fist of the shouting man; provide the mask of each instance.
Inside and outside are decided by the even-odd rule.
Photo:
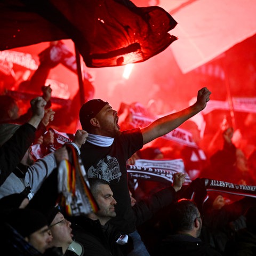
[[[210,100],[210,94],[211,92],[206,87],[203,87],[197,92],[197,101],[194,105],[179,112],[161,117],[149,126],[141,129],[143,144],[171,132],[190,117],[202,111],[206,107],[206,103]]]

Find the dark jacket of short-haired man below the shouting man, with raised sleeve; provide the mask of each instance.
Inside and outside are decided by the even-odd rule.
[[[157,211],[169,205],[175,195],[173,187],[168,187],[136,203],[132,207],[137,219],[136,224],[139,226],[152,218]],[[129,239],[126,245],[116,244],[121,232],[111,221],[105,226],[98,220],[94,221],[85,216],[71,217],[70,221],[73,223],[74,239],[83,244],[86,256],[122,256],[132,249],[132,239]]]

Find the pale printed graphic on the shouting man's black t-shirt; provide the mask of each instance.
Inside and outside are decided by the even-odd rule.
[[[119,182],[122,175],[117,159],[112,156],[102,158],[96,168],[91,166],[87,172],[88,178],[99,178],[110,182],[117,179]]]

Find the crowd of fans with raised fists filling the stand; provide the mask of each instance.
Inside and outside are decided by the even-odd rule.
[[[55,115],[51,87],[42,87],[42,97],[31,100],[31,108],[23,116],[19,116],[14,99],[1,95],[2,245],[11,255],[256,255],[255,198],[207,192],[202,179],[255,185],[255,153],[249,158],[249,168],[232,142],[231,127],[223,131],[223,149],[213,154],[196,176],[191,172],[189,185],[183,185],[189,174],[187,158],[188,174],[174,174],[170,185],[139,180],[135,187],[134,180],[127,180],[125,166],[133,164],[134,158],[164,158],[161,147],[143,150],[142,146],[204,109],[210,94],[203,88],[194,106],[122,135],[117,111],[108,102],[87,101],[80,110],[82,130],[76,131],[73,141],[54,150],[49,129]],[[113,153],[109,148],[118,138],[122,139]],[[58,167],[63,160],[70,160],[67,144],[82,159],[99,207],[95,212],[70,216],[60,204]],[[44,148],[42,157],[34,158],[33,145]],[[181,157],[182,152],[187,153],[180,150]],[[93,175],[106,155],[116,156],[112,161],[124,169],[120,175],[110,167],[107,170],[118,176],[118,182],[112,182],[103,171]],[[131,215],[132,221],[126,219]]]

